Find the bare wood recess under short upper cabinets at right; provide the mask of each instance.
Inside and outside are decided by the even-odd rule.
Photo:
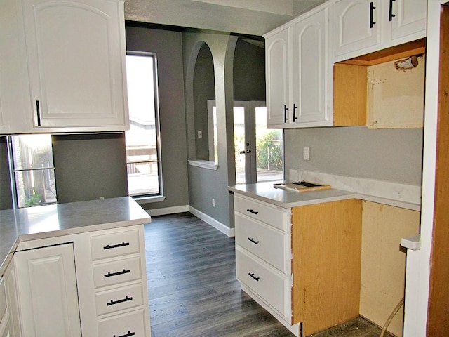
[[[425,39],[387,48],[334,65],[335,126],[422,128]],[[418,55],[418,64],[395,63]]]

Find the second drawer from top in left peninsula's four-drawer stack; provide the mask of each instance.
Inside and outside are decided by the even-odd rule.
[[[140,258],[138,256],[93,265],[93,284],[95,288],[133,281],[141,277]]]

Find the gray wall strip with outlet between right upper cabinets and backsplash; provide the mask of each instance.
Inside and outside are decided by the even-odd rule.
[[[304,169],[421,185],[422,141],[422,128],[288,129],[286,175],[289,169]],[[304,146],[310,147],[310,161],[302,159]]]

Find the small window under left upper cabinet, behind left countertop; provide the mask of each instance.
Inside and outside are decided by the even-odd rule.
[[[56,204],[51,135],[8,136],[7,140],[15,206]]]

